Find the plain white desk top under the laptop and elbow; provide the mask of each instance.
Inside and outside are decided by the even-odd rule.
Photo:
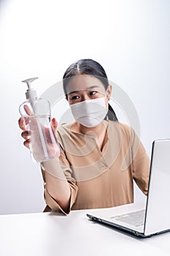
[[[92,211],[2,215],[0,255],[170,255],[170,232],[137,238],[90,221]]]

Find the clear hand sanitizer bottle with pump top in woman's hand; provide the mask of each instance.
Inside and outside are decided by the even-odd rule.
[[[23,116],[26,129],[30,135],[31,157],[36,162],[45,162],[59,157],[60,146],[51,127],[50,102],[47,99],[38,98],[31,82],[36,78],[23,80],[28,89],[26,91],[26,102],[20,105],[20,115]]]

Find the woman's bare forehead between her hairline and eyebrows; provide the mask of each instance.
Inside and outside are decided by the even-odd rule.
[[[100,91],[104,91],[104,85],[101,80],[95,78],[93,75],[74,75],[69,79],[66,85],[66,93],[69,94],[72,91],[87,90],[90,88],[98,88]]]

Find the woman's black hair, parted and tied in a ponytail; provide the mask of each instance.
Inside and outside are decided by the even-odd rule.
[[[106,91],[109,86],[107,74],[101,64],[97,61],[93,61],[93,59],[80,59],[79,61],[71,64],[63,75],[63,91],[65,94],[69,78],[72,78],[74,75],[93,75],[98,78],[98,80],[101,80]],[[112,109],[111,105],[109,105],[107,116],[104,119],[118,121],[115,111]]]

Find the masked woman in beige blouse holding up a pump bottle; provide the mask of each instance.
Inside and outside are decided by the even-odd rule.
[[[63,75],[63,91],[75,121],[58,127],[52,120],[61,154],[41,165],[46,211],[133,203],[133,180],[147,195],[150,159],[134,130],[117,121],[103,67],[91,59],[75,62]],[[29,148],[23,118],[19,125]]]

